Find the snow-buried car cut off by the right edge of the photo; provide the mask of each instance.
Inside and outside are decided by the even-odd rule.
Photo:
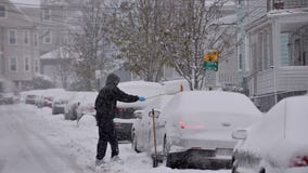
[[[233,173],[308,172],[308,95],[287,97],[247,130],[233,152]]]

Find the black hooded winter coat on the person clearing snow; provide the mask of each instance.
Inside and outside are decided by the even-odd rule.
[[[116,102],[137,102],[139,96],[129,95],[117,88],[119,78],[116,75],[110,75],[106,85],[100,91],[95,99],[97,123],[100,127],[102,121],[113,120],[116,115]]]

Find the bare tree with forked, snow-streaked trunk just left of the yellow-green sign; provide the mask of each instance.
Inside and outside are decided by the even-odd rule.
[[[169,25],[163,44],[169,64],[190,83],[191,90],[201,90],[206,72],[203,57],[207,51],[221,55],[231,40],[230,27],[218,23],[228,0],[169,0]],[[232,34],[234,35],[234,34]],[[222,53],[223,52],[223,53]]]

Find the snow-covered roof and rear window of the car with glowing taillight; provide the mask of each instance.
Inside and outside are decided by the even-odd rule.
[[[251,114],[257,116],[261,114],[244,94],[223,91],[180,92],[175,95],[168,103],[168,106],[166,106],[166,109],[164,109],[166,115],[192,114],[196,111]]]

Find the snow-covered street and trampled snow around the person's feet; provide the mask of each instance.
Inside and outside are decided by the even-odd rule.
[[[0,173],[91,173],[97,147],[97,127],[92,117],[76,121],[64,120],[63,115],[51,115],[50,108],[33,105],[0,106]],[[171,170],[161,164],[152,168],[146,154],[136,154],[130,144],[120,144],[124,164],[108,172],[216,172],[230,170]],[[110,148],[106,161],[110,161]]]

